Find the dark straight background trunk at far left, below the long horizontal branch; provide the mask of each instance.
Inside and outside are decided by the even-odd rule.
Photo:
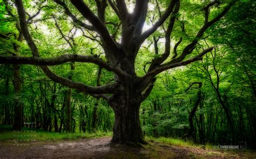
[[[23,105],[21,103],[21,71],[18,64],[14,64],[14,91],[15,91],[15,119],[12,129],[20,131],[22,129],[23,115],[22,109]]]

